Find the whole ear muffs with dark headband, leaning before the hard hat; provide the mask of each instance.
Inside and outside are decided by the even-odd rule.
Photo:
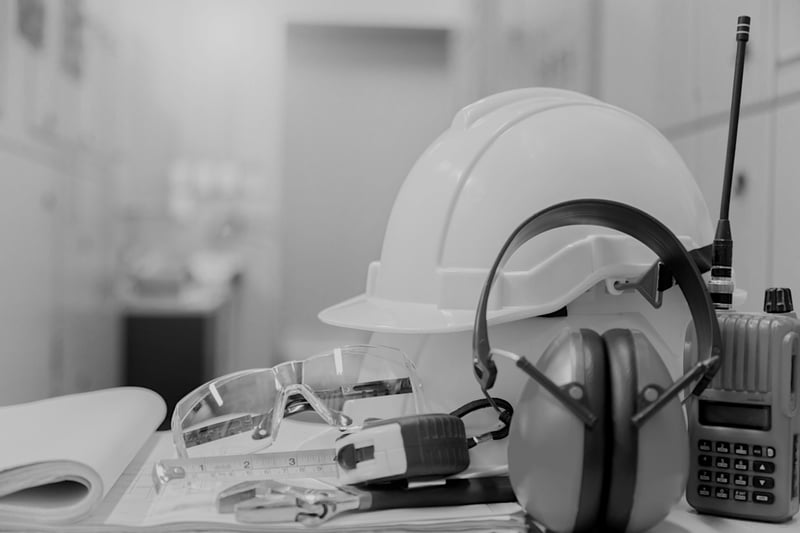
[[[673,381],[638,330],[565,328],[534,366],[492,350],[486,305],[499,268],[522,244],[552,228],[611,227],[646,244],[660,258],[651,272],[674,277],[689,303],[705,357]],[[663,269],[663,270],[662,270]],[[661,290],[671,285],[655,283]],[[670,279],[667,278],[667,281]],[[557,204],[525,221],[509,237],[484,286],[473,336],[476,378],[494,381],[492,354],[502,354],[532,379],[511,421],[509,476],[526,512],[553,532],[641,532],[669,513],[689,471],[689,440],[679,393],[699,394],[719,368],[720,335],[697,266],[677,237],[646,213],[606,200]],[[495,371],[496,372],[496,371]],[[488,387],[484,387],[484,392]]]

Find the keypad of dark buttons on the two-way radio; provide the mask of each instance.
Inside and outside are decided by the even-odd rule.
[[[763,459],[774,458],[772,446],[749,445],[743,442],[698,440],[697,494],[706,498],[763,505],[775,503],[775,480],[765,474],[775,472],[775,463]],[[733,469],[734,472],[730,472]],[[749,475],[752,472],[756,475]],[[731,483],[736,488],[729,488]],[[749,489],[749,490],[748,490]]]

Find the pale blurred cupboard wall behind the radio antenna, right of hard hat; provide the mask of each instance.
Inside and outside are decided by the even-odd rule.
[[[790,174],[797,167],[789,139],[800,128],[800,116],[791,117],[790,105],[800,96],[800,83],[792,86],[793,74],[787,73],[796,68],[791,57],[800,42],[796,3],[649,0],[631,10],[632,3],[602,3],[600,48],[638,50],[652,58],[652,66],[631,70],[624,56],[615,60],[604,53],[600,76],[614,81],[604,81],[598,96],[637,112],[664,132],[697,179],[714,217],[727,148],[736,22],[740,15],[751,17],[730,208],[736,281],[748,291],[743,310],[760,309],[768,286],[800,291],[800,243],[789,238],[796,232],[789,204]],[[611,26],[610,15],[616,21]],[[642,32],[642,27],[651,31]]]

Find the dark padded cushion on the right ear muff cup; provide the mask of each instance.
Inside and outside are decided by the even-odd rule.
[[[628,329],[611,329],[603,334],[610,378],[611,462],[608,474],[607,531],[625,531],[631,516],[636,490],[639,456],[638,430],[631,418],[636,412],[638,383],[636,349]]]

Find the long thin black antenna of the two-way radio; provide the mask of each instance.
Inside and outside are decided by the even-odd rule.
[[[728,124],[728,148],[725,154],[725,171],[722,183],[722,201],[719,208],[717,231],[711,245],[711,280],[709,292],[715,309],[733,306],[733,236],[729,218],[733,162],[736,156],[736,136],[739,130],[739,108],[742,103],[742,77],[744,75],[745,48],[750,38],[750,17],[741,16],[736,23],[736,66],[733,72],[733,94]]]

